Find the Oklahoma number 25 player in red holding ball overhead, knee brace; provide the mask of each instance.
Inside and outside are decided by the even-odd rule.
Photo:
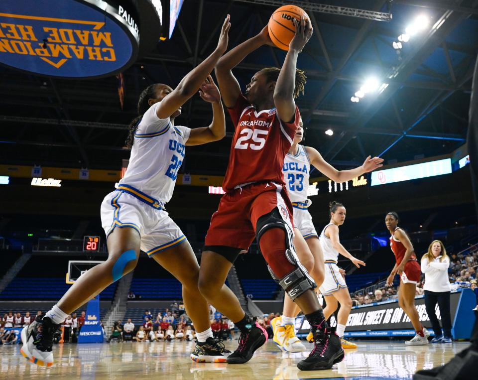
[[[313,279],[297,259],[292,244],[292,204],[282,174],[284,157],[299,125],[294,98],[303,93],[305,84],[303,71],[296,69],[297,57],[313,31],[304,18],[295,26],[282,68],[255,73],[243,95],[231,69],[260,46],[273,46],[267,27],[216,65],[219,87],[236,131],[223,183],[226,194],[206,236],[199,289],[241,332],[239,347],[227,362],[247,362],[267,341],[267,333],[244,313],[224,282],[239,253],[247,252],[255,237],[271,275],[306,314],[315,335],[314,349],[298,364],[299,369],[322,370],[342,361],[344,351],[324,319]]]

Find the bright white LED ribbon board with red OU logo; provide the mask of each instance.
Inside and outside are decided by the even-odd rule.
[[[443,160],[373,171],[371,173],[371,186],[387,185],[394,182],[433,177],[436,175],[450,174],[451,172],[452,160],[450,158],[445,158]]]

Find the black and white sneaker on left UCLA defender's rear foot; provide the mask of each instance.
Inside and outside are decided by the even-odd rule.
[[[60,328],[49,317],[41,314],[21,330],[21,355],[38,366],[50,367],[53,365],[53,335]]]

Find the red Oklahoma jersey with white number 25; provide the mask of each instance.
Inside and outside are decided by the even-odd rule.
[[[284,157],[299,125],[297,106],[292,123],[281,121],[275,108],[256,112],[242,94],[228,111],[236,131],[223,182],[224,190],[231,191],[235,186],[248,182],[284,184]]]

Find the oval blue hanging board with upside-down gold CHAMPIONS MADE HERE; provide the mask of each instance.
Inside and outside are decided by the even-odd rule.
[[[138,54],[132,0],[2,0],[0,63],[40,75],[94,78]]]

